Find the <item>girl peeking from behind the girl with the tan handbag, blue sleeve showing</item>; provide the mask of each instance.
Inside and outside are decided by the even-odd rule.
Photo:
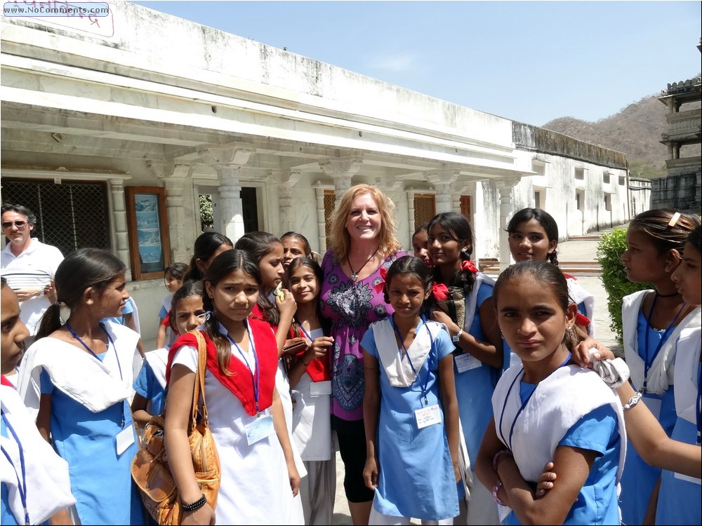
[[[168,307],[171,330],[177,335],[198,328],[205,321],[202,306],[202,282],[186,281],[176,290]],[[134,380],[131,410],[138,427],[149,423],[152,415],[161,414],[166,404],[166,363],[168,349],[146,353],[144,365]]]

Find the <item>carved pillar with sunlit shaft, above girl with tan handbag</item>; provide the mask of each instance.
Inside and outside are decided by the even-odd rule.
[[[199,150],[204,163],[212,166],[220,182],[219,231],[234,243],[244,235],[244,206],[241,203],[241,167],[251,160],[254,150],[236,146],[208,147]]]

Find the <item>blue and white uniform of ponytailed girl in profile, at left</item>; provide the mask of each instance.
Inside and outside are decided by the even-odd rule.
[[[29,347],[20,367],[20,395],[36,414],[51,394],[53,446],[68,462],[75,512],[83,524],[143,524],[131,478],[138,450],[128,397],[139,335],[108,322],[110,346],[91,356],[54,337]]]

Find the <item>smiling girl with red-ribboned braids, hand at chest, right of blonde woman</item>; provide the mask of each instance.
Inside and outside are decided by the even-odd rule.
[[[502,339],[491,299],[494,281],[479,272],[470,253],[473,234],[463,215],[446,212],[428,224],[429,255],[435,264],[432,318],[443,323],[454,344],[456,398],[468,462],[475,464],[480,440],[492,417],[490,397],[503,366]],[[459,443],[460,445],[460,443]],[[461,455],[461,459],[464,456]],[[467,522],[497,524],[494,501],[482,485],[472,484],[472,471],[463,469],[459,495],[470,490]],[[468,488],[466,485],[472,485]],[[463,501],[463,499],[461,499]],[[463,506],[462,506],[463,510]],[[464,513],[457,522],[464,522]]]

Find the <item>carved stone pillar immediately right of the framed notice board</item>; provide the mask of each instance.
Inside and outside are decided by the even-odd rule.
[[[166,215],[168,217],[168,238],[171,245],[171,262],[187,263],[192,253],[192,236],[185,224],[185,188],[192,174],[192,166],[187,164],[148,163],[154,175],[164,182],[166,191]],[[199,210],[197,210],[199,213]]]

